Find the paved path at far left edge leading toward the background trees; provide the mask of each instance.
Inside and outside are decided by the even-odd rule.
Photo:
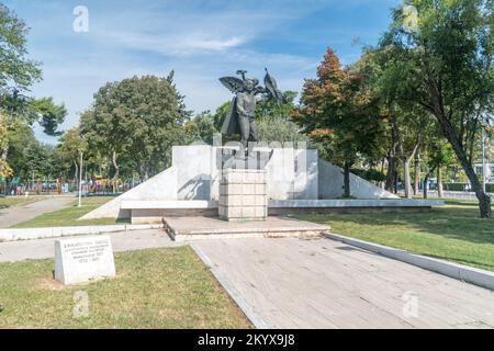
[[[44,213],[67,207],[76,201],[70,196],[53,196],[20,206],[0,210],[0,228],[9,228],[19,223],[33,219]]]

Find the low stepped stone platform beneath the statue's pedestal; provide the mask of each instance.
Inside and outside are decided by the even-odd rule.
[[[214,217],[165,217],[165,230],[175,241],[215,238],[308,238],[318,237],[329,226],[289,217],[261,222],[225,222]]]

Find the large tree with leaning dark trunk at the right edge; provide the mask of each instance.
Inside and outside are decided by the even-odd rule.
[[[402,8],[380,43],[390,59],[385,71],[396,99],[420,105],[440,126],[479,199],[481,217],[491,217],[491,197],[476,177],[473,144],[494,107],[494,2],[492,0],[407,0],[418,13],[404,25]]]

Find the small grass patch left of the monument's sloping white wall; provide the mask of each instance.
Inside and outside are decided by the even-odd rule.
[[[13,228],[44,228],[44,227],[68,227],[68,226],[91,226],[91,225],[112,225],[122,222],[117,222],[115,218],[100,218],[89,220],[77,220],[85,214],[101,206],[114,197],[85,197],[82,199],[82,206],[78,207],[78,201],[75,200],[74,204],[67,208],[45,213],[36,218],[26,220],[13,226]]]

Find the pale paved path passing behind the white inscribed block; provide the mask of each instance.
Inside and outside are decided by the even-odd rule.
[[[171,241],[165,230],[146,229],[109,234],[114,251],[132,251],[160,247],[178,246]],[[0,262],[13,262],[26,259],[48,259],[55,256],[55,240],[47,238],[24,241],[0,242]]]

